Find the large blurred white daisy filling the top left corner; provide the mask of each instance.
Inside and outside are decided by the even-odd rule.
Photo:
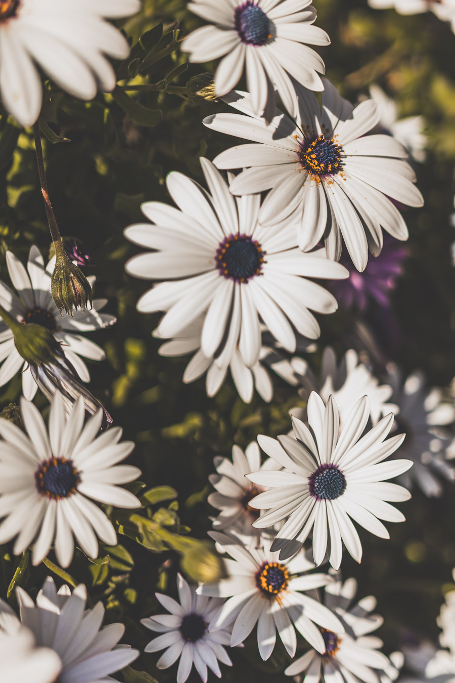
[[[3,0],[0,3],[0,92],[21,126],[31,126],[42,103],[39,66],[74,97],[91,100],[98,87],[115,88],[104,57],[125,59],[128,42],[104,17],[136,14],[139,0]]]

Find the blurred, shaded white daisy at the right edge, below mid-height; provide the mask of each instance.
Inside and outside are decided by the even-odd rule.
[[[400,480],[407,488],[417,484],[428,497],[440,496],[443,487],[437,475],[451,482],[455,479],[455,467],[446,459],[455,457],[453,445],[450,449],[453,436],[447,430],[455,421],[455,406],[443,400],[441,389],[426,387],[422,372],[413,372],[403,382],[396,365],[390,363],[387,371],[385,379],[393,389],[392,401],[399,408],[396,430],[406,433],[396,457],[414,463]]]

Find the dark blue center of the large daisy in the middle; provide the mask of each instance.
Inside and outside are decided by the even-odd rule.
[[[234,282],[248,282],[261,275],[265,251],[250,235],[229,235],[216,250],[216,267],[220,275]]]

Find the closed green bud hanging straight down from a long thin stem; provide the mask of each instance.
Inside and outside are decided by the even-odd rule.
[[[55,305],[59,313],[73,315],[73,307],[85,311],[85,307],[90,303],[91,307],[91,286],[79,266],[76,266],[68,257],[63,249],[61,242],[57,245],[57,260],[55,261],[54,272],[51,280],[51,292]]]

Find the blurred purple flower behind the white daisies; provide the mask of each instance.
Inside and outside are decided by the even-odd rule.
[[[375,299],[381,307],[389,308],[390,292],[395,289],[396,280],[402,275],[402,263],[407,255],[407,249],[400,242],[386,235],[381,253],[377,257],[370,257],[363,273],[359,273],[347,251],[343,250],[340,262],[349,270],[349,277],[332,283],[338,303],[364,311],[370,299]]]

